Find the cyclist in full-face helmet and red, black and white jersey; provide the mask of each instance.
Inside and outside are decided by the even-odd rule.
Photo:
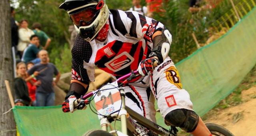
[[[211,135],[192,110],[189,94],[168,57],[172,36],[162,23],[134,11],[108,10],[104,0],[65,0],[59,8],[68,12],[78,32],[64,112],[73,112],[74,101],[88,91],[96,66],[114,79],[138,68],[141,76],[123,87],[126,106],[156,122],[155,97],[166,124],[194,135]]]

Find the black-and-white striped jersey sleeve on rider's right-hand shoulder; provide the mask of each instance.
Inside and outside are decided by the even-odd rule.
[[[144,38],[152,42],[152,35],[162,30],[164,25],[135,11],[110,10],[116,30],[123,35],[129,34],[135,38]]]

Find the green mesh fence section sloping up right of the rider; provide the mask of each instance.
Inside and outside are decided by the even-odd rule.
[[[205,114],[228,96],[256,63],[256,8],[224,36],[177,63],[194,110]]]

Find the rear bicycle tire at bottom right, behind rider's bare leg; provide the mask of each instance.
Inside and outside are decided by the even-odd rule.
[[[218,124],[206,123],[205,125],[212,133],[212,136],[234,136],[234,134],[232,134],[229,130],[227,130],[226,128]],[[189,136],[193,136],[193,135],[190,134]]]

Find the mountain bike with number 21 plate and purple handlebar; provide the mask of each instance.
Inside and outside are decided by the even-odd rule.
[[[90,134],[102,136],[111,136],[111,134],[118,136],[158,136],[158,134],[161,136],[177,136],[178,129],[176,127],[170,126],[170,130],[167,130],[125,106],[125,93],[122,88],[119,88],[138,75],[137,70],[132,71],[111,84],[108,83],[98,90],[81,96],[80,102],[75,104],[76,107],[89,104],[92,110],[90,103],[94,100],[96,105],[94,109],[98,113],[92,111],[98,114],[102,128],[102,130],[89,131],[85,136]],[[121,131],[115,130],[110,124],[113,121],[116,122],[116,120],[121,121]],[[108,126],[110,127],[110,132],[108,132]],[[217,124],[206,123],[206,126],[212,135],[234,136],[229,130]]]

